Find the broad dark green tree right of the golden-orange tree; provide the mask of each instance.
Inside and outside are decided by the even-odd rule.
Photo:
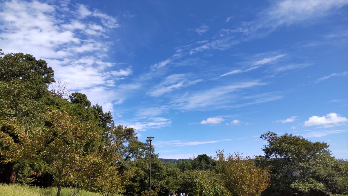
[[[318,172],[330,168],[334,159],[325,142],[311,142],[300,136],[268,132],[260,138],[267,140],[264,157],[256,163],[271,171],[271,186],[266,195],[329,195],[329,185]],[[322,173],[324,174],[324,173]]]

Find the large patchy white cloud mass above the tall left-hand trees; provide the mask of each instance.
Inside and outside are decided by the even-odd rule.
[[[70,90],[86,93],[93,104],[98,102],[104,110],[113,111],[112,105],[122,103],[130,94],[128,90],[139,88],[139,85],[115,88],[118,80],[132,74],[132,69],[118,68],[116,63],[102,59],[112,44],[105,33],[119,27],[118,20],[98,10],[90,11],[82,4],[69,4],[68,1],[65,5],[39,1],[0,3],[1,48],[45,60],[55,71],[55,77],[67,82]],[[87,17],[92,20],[83,19]],[[95,23],[98,19],[101,25]]]

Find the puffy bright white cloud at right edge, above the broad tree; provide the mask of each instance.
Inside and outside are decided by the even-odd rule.
[[[348,119],[345,117],[340,116],[336,113],[330,113],[325,116],[319,117],[319,116],[312,116],[309,117],[308,121],[304,122],[304,126],[314,126],[314,125],[334,125],[342,122],[347,122]]]

